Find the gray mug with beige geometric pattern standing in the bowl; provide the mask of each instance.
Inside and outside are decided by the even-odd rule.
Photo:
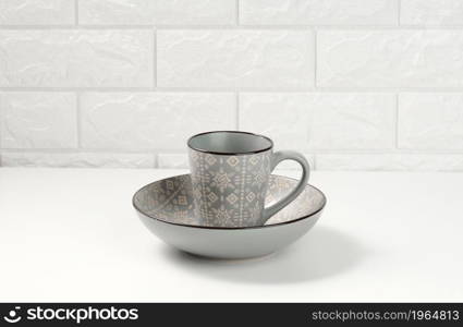
[[[263,226],[304,190],[307,160],[295,152],[273,153],[273,142],[246,132],[218,131],[192,136],[188,142],[193,197],[205,226]],[[285,197],[264,208],[269,175],[282,160],[303,168],[298,184]]]

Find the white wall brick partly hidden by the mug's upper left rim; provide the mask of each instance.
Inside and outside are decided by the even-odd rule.
[[[231,93],[84,93],[82,146],[181,152],[190,135],[233,129],[235,100]]]

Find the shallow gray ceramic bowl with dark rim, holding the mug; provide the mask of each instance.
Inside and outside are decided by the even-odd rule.
[[[288,194],[297,181],[272,174],[266,197],[270,205]],[[133,196],[143,223],[166,243],[200,256],[249,258],[270,254],[304,235],[318,220],[326,197],[307,185],[290,205],[265,226],[223,228],[204,226],[194,215],[190,174],[150,183]]]

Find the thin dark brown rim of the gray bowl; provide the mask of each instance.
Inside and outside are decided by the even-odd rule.
[[[155,183],[159,183],[159,182],[162,182],[162,181],[166,181],[166,180],[170,180],[170,179],[172,179],[172,178],[179,178],[179,177],[185,177],[185,175],[190,175],[190,173],[183,173],[183,174],[176,174],[176,175],[171,175],[171,177],[168,177],[168,178],[165,178],[165,179],[161,179],[161,180],[158,180],[158,181],[155,181],[155,182],[151,182],[151,183],[149,183],[149,184],[146,184],[146,185],[144,185],[144,186],[142,186],[141,189],[138,189],[135,193],[134,193],[134,195],[132,196],[132,205],[133,205],[133,207],[139,213],[139,214],[142,214],[142,215],[144,215],[145,217],[147,217],[147,218],[150,218],[150,219],[154,219],[154,220],[157,220],[157,221],[160,221],[160,222],[163,222],[163,223],[169,223],[169,225],[174,225],[174,226],[181,226],[181,227],[187,227],[187,228],[199,228],[199,229],[210,229],[210,230],[251,230],[251,229],[264,229],[264,228],[272,228],[272,227],[279,227],[279,226],[283,226],[283,225],[291,225],[291,223],[294,223],[294,222],[297,222],[297,221],[301,221],[301,220],[304,220],[304,219],[307,219],[307,218],[310,218],[310,217],[314,217],[314,216],[316,216],[317,214],[319,214],[319,213],[321,213],[322,210],[324,210],[324,208],[325,208],[325,206],[326,206],[326,204],[327,204],[327,197],[326,197],[326,195],[325,195],[325,193],[324,192],[321,192],[318,187],[316,187],[316,186],[314,186],[314,185],[312,185],[312,184],[306,184],[306,187],[307,186],[309,186],[309,187],[312,187],[312,189],[314,189],[314,190],[316,190],[317,192],[319,192],[320,194],[321,194],[321,197],[322,197],[322,203],[321,203],[321,205],[320,205],[320,207],[318,208],[318,209],[316,209],[314,213],[310,213],[309,215],[305,215],[305,216],[302,216],[302,217],[298,217],[298,218],[296,218],[296,219],[292,219],[292,220],[289,220],[289,221],[283,221],[283,222],[277,222],[277,223],[271,223],[271,225],[264,225],[264,226],[248,226],[248,227],[246,227],[246,226],[244,226],[244,227],[221,227],[221,226],[200,226],[200,225],[190,225],[190,223],[181,223],[181,222],[172,222],[172,221],[166,221],[166,220],[162,220],[162,219],[159,219],[159,218],[156,218],[156,217],[153,217],[153,216],[150,216],[150,215],[148,215],[148,214],[146,214],[146,213],[144,213],[137,205],[136,205],[136,203],[135,203],[135,197],[136,197],[136,195],[142,191],[142,190],[144,190],[144,189],[146,189],[146,187],[148,187],[148,186],[150,186],[150,185],[153,185],[153,184],[155,184]],[[284,178],[284,179],[288,179],[288,180],[293,180],[293,181],[298,181],[298,180],[296,180],[296,179],[293,179],[293,178],[290,178],[290,177],[285,177],[285,175],[281,175],[281,174],[276,174],[276,173],[272,173],[271,175],[275,175],[275,177],[278,177],[278,178]]]

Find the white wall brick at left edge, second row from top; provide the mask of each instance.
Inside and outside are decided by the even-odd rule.
[[[149,31],[0,31],[0,86],[153,85]]]

